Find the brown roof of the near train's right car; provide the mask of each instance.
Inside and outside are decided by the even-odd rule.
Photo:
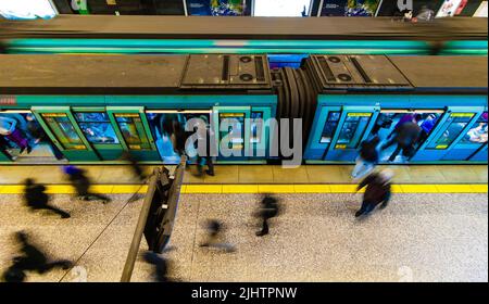
[[[487,93],[487,56],[313,55],[302,68],[324,93]]]

